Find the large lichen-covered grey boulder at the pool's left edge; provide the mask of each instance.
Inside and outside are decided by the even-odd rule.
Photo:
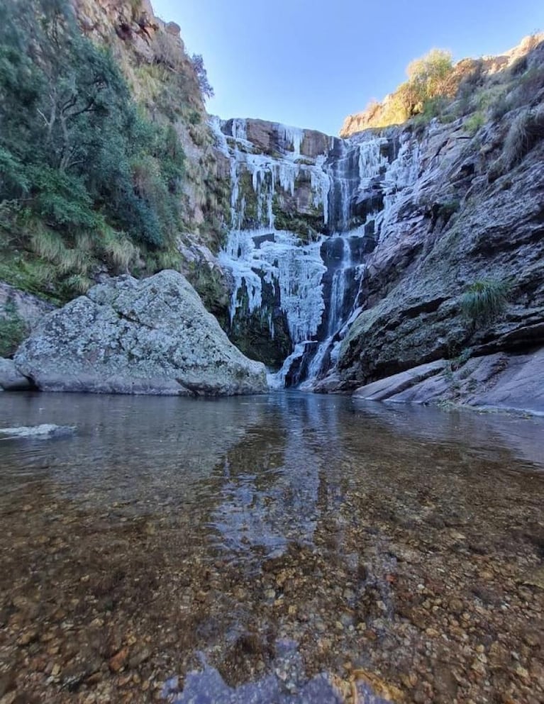
[[[121,276],[45,318],[16,368],[43,391],[260,393],[265,368],[228,341],[181,274]]]

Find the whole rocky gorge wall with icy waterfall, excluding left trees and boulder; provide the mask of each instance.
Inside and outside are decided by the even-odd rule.
[[[351,391],[440,362],[440,384],[413,394],[455,401],[492,389],[512,354],[533,364],[544,329],[541,38],[446,67],[440,94],[423,102],[406,84],[395,98],[409,98],[406,123],[356,131],[394,114],[391,98],[340,139],[209,118],[179,27],[147,0],[73,4],[82,33],[111,49],[145,114],[173,128],[186,155],[175,251],[148,248],[144,264],[131,245],[113,259],[146,276],[174,257],[231,340],[277,371],[273,385]],[[433,55],[434,68],[443,60]],[[473,361],[491,356],[485,368]],[[406,386],[394,389],[390,398]]]

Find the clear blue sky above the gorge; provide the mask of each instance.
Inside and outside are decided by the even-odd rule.
[[[432,48],[454,60],[503,52],[544,30],[543,0],[151,0],[202,54],[222,118],[337,134]]]

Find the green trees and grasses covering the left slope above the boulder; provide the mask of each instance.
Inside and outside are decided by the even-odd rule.
[[[176,42],[183,54],[179,37],[157,33],[165,53],[157,58],[152,30],[138,20],[150,57],[129,67],[77,20],[67,0],[0,7],[0,279],[60,300],[85,291],[101,271],[179,267],[177,240],[187,225],[179,111],[195,125],[204,112],[196,72],[198,100],[187,108],[181,90],[179,104],[165,109],[145,94],[146,70],[187,79],[186,67],[170,67]]]

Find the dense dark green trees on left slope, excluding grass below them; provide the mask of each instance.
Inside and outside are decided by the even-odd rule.
[[[135,179],[145,158],[148,190]],[[79,33],[66,0],[2,4],[0,201],[25,203],[65,238],[96,237],[106,221],[160,246],[179,220],[183,164],[177,134],[138,111],[111,52]]]

